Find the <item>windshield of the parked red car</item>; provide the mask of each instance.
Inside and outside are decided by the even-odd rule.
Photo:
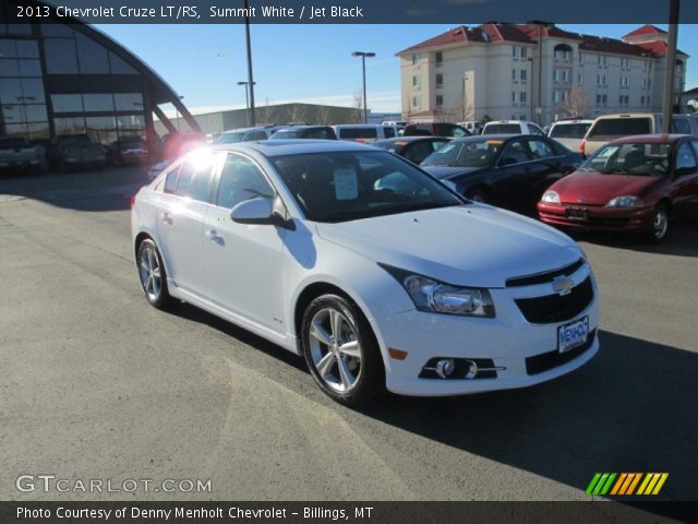
[[[585,162],[579,170],[603,175],[661,176],[669,172],[672,146],[669,144],[607,144]]]

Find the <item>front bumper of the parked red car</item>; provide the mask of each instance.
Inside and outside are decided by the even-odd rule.
[[[570,216],[569,210],[576,216]],[[546,224],[600,231],[645,231],[651,227],[652,213],[652,207],[622,210],[600,205],[538,203],[540,219]]]

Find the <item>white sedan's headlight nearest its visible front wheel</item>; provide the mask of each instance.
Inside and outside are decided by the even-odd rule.
[[[380,265],[402,285],[419,311],[494,318],[494,305],[488,289],[452,286],[397,267]]]

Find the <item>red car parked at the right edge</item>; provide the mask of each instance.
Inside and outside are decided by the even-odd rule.
[[[538,203],[541,221],[661,242],[670,217],[698,215],[698,138],[643,134],[605,144]]]

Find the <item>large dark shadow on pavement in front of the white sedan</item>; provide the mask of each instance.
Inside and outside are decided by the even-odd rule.
[[[552,382],[452,398],[392,395],[363,413],[580,491],[597,472],[666,472],[659,497],[694,500],[698,355],[600,337],[589,364]]]

